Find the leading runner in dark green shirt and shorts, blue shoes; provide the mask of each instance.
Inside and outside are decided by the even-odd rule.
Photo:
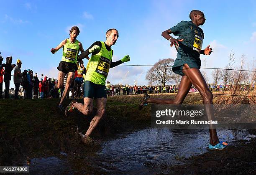
[[[212,53],[210,45],[205,50],[201,50],[205,36],[199,25],[205,23],[205,15],[199,10],[192,10],[189,18],[191,21],[182,21],[162,33],[162,36],[171,42],[171,47],[178,46],[177,58],[172,66],[174,73],[182,76],[177,95],[174,99],[154,99],[145,94],[139,105],[139,110],[146,106],[147,103],[182,104],[192,84],[200,92],[204,104],[212,104],[212,92],[207,87],[205,79],[199,70],[201,66],[200,54],[210,55]],[[170,34],[179,37],[175,39]],[[214,111],[212,105],[205,106],[208,119],[213,119]],[[209,125],[209,130],[209,149],[224,149],[227,143],[219,140],[216,129]]]

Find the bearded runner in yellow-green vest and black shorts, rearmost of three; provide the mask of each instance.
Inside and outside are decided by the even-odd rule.
[[[62,88],[64,86],[64,77],[67,75],[65,90],[58,105],[58,108],[61,111],[64,111],[62,103],[66,96],[69,94],[70,85],[74,79],[74,72],[77,70],[76,63],[78,53],[79,51],[81,51],[81,53],[84,51],[82,43],[77,40],[77,36],[80,33],[79,28],[77,26],[73,26],[69,32],[69,38],[61,41],[61,43],[56,48],[51,48],[51,53],[53,54],[56,53],[60,48],[63,48],[61,62],[57,67],[59,70],[58,83],[55,84],[55,89]]]

